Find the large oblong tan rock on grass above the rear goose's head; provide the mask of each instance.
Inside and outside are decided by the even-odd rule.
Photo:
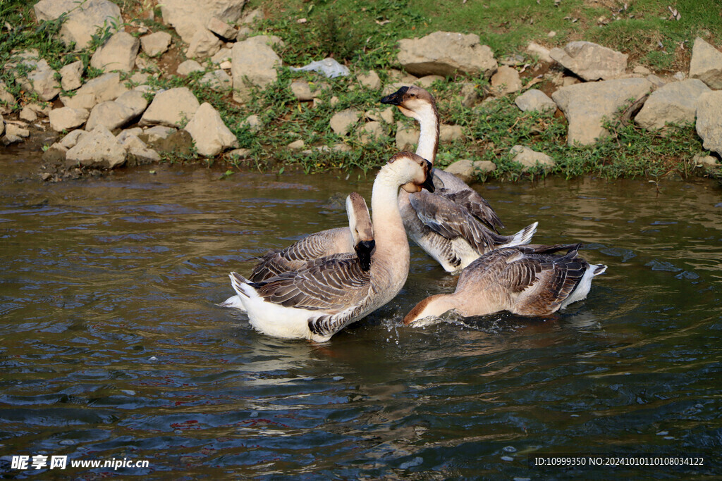
[[[479,35],[433,32],[418,39],[399,40],[397,57],[404,70],[414,75],[449,76],[456,72],[489,78],[497,69],[491,48],[479,43]]]

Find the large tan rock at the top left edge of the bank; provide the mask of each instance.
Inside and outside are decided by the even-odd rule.
[[[38,21],[66,14],[60,36],[66,45],[74,42],[75,50],[86,48],[98,28],[123,25],[120,7],[110,0],[40,0],[33,8]]]

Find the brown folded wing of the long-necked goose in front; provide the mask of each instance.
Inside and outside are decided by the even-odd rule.
[[[370,275],[355,254],[310,261],[297,272],[283,273],[253,287],[265,301],[297,309],[339,312],[368,295]]]

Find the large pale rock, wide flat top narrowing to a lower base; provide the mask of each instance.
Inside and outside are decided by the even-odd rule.
[[[601,124],[612,118],[627,100],[639,100],[652,88],[646,79],[616,79],[563,87],[552,99],[569,121],[567,143],[593,144],[596,138],[609,135]]]

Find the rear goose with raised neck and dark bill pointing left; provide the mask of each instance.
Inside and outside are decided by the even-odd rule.
[[[401,87],[380,100],[396,105],[401,113],[419,122],[416,153],[434,162],[439,141],[439,114],[434,97],[419,87]],[[528,244],[536,232],[534,222],[511,236],[498,229],[504,224],[497,213],[469,185],[450,172],[433,169],[435,193],[399,193],[404,227],[414,242],[448,273],[458,273],[480,255],[500,247]]]

